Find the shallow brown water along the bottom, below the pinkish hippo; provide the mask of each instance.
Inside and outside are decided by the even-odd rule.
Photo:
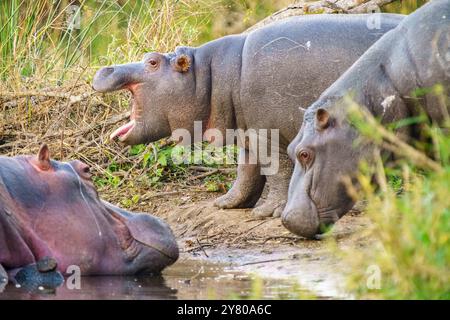
[[[9,283],[0,293],[0,300],[295,299],[305,294],[287,280],[255,280],[225,265],[187,260],[168,268],[159,277],[83,277],[80,290],[70,290],[64,284],[54,292],[27,292]]]

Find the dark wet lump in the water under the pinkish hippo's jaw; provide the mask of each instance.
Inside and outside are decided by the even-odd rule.
[[[56,267],[56,261],[46,257],[36,264],[20,269],[14,279],[28,291],[51,291],[64,283],[64,277],[56,270]]]

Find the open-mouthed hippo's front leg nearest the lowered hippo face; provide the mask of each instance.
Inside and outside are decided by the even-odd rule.
[[[293,165],[286,153],[279,154],[278,173],[267,176],[269,194],[266,201],[253,209],[252,213],[260,218],[280,217],[287,202],[289,181],[292,176]]]

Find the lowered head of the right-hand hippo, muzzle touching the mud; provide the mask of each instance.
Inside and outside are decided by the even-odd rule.
[[[295,169],[282,221],[306,238],[322,233],[352,208],[344,178],[354,176],[365,153],[365,147],[355,148],[356,130],[331,106],[331,101],[311,106],[288,147]]]

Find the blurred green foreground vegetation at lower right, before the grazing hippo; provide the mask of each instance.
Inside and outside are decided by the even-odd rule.
[[[442,87],[427,92],[448,106]],[[365,211],[374,222],[367,236],[376,244],[347,256],[353,265],[350,288],[362,298],[450,299],[450,118],[441,126],[411,121],[421,126],[425,140],[406,144],[367,112],[352,109],[360,132],[397,160],[389,167],[381,157],[372,167],[362,165],[359,196],[367,200]],[[379,288],[370,285],[374,266]]]

